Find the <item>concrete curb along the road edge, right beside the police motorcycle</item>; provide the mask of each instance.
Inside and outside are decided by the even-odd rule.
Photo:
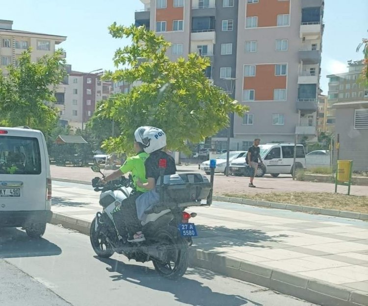
[[[91,222],[53,213],[51,223],[89,235]],[[240,260],[209,251],[189,248],[189,263],[238,280],[288,294],[323,306],[368,306],[368,293],[326,283],[320,280],[269,268],[259,263]]]

